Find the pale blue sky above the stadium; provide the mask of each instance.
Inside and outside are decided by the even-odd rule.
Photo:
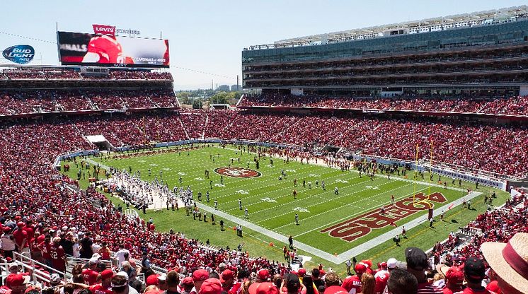
[[[236,83],[241,50],[289,37],[329,33],[386,23],[520,6],[516,0],[69,0],[6,1],[0,20],[0,49],[35,47],[33,64],[58,65],[55,23],[59,30],[93,33],[93,23],[141,31],[142,37],[169,39],[176,89]],[[28,40],[16,37],[32,37]],[[6,60],[0,59],[0,64]],[[204,71],[214,73],[198,73]]]

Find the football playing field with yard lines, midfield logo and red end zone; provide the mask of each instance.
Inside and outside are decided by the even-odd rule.
[[[217,213],[231,216],[233,223],[245,220],[262,228],[263,232],[285,237],[292,235],[295,242],[333,255],[343,254],[396,230],[396,225],[401,231],[402,225],[427,215],[429,206],[445,209],[467,194],[466,189],[450,187],[451,179],[445,179],[449,184],[448,189],[444,189],[437,184],[437,176],[435,182],[430,182],[428,177],[414,181],[396,175],[389,180],[384,174],[371,179],[365,175],[360,177],[356,171],[298,161],[286,163],[282,158],[272,158],[273,165],[270,158],[260,158],[257,168],[255,156],[236,150],[234,146],[209,146],[191,151],[93,160],[108,167],[132,168],[132,172],[140,170],[142,180],[157,178],[168,183],[171,189],[190,186],[196,201],[197,193],[202,192],[202,200],[197,202],[208,211],[214,213],[214,201],[217,201]],[[209,178],[205,170],[210,171]],[[286,177],[279,180],[282,171]],[[407,175],[413,178],[413,171],[408,171]],[[294,185],[295,179],[297,185]],[[326,189],[322,188],[323,181]],[[297,191],[295,199],[294,190]],[[209,202],[205,198],[207,191],[210,192]],[[391,204],[392,195],[394,204]],[[413,205],[420,200],[421,203]],[[247,217],[245,208],[248,209]]]

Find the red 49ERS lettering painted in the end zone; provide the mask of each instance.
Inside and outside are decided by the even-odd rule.
[[[425,194],[419,193],[415,195],[415,199],[425,199]],[[429,196],[430,201],[437,203],[444,203],[447,201],[442,193],[433,193]],[[397,201],[395,204],[384,206],[385,213],[381,214],[379,209],[363,213],[361,216],[356,216],[350,220],[345,220],[343,223],[332,225],[326,229],[321,230],[321,233],[328,233],[332,237],[340,238],[348,242],[357,240],[360,237],[368,235],[372,229],[385,228],[391,225],[396,220],[401,220],[408,216],[417,213],[418,211],[427,210],[429,206],[425,203],[413,204],[413,196]]]

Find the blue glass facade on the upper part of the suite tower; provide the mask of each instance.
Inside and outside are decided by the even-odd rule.
[[[500,45],[524,42],[527,36],[528,20],[518,20],[496,25],[482,25],[411,35],[394,35],[327,45],[244,50],[242,52],[242,64],[341,59],[374,54]]]

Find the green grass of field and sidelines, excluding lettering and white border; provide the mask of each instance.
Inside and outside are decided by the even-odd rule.
[[[198,148],[193,151],[184,151],[181,153],[163,153],[158,155],[144,155],[133,158],[106,159],[92,158],[94,161],[106,166],[113,166],[119,169],[132,171],[141,170],[143,180],[151,181],[154,177],[159,176],[159,170],[163,170],[163,180],[168,182],[169,187],[180,187],[178,178],[183,179],[183,186],[190,187],[195,192],[202,192],[202,204],[213,206],[216,199],[219,203],[219,210],[229,213],[232,216],[244,218],[243,210],[239,209],[241,199],[243,207],[248,208],[248,221],[279,233],[281,235],[293,235],[294,240],[311,245],[318,249],[331,254],[340,254],[346,250],[362,244],[378,235],[386,233],[394,227],[385,226],[384,228],[374,229],[368,235],[360,237],[352,242],[345,241],[338,237],[332,237],[328,233],[321,233],[321,230],[332,225],[343,222],[359,216],[369,211],[379,211],[382,205],[390,204],[391,195],[394,195],[396,201],[413,196],[415,193],[432,194],[440,192],[449,203],[455,199],[464,196],[466,192],[454,189],[443,189],[442,187],[430,186],[423,182],[428,182],[428,175],[425,180],[419,180],[421,183],[413,181],[397,180],[397,176],[391,176],[391,180],[386,175],[378,175],[373,181],[369,177],[359,177],[357,172],[343,172],[341,170],[323,167],[320,165],[302,164],[296,161],[284,163],[280,158],[273,158],[274,165],[270,165],[270,158],[261,158],[259,160],[261,172],[260,177],[238,178],[223,177],[221,184],[220,175],[214,172],[218,167],[243,167],[252,170],[256,169],[253,161],[254,154],[241,153],[236,151],[233,146],[220,148],[219,146],[210,146]],[[239,163],[240,157],[240,163]],[[231,164],[231,158],[233,163]],[[213,160],[214,159],[214,160]],[[71,165],[71,164],[70,164]],[[151,176],[148,170],[151,169]],[[205,170],[210,170],[210,179],[205,178]],[[278,180],[281,170],[287,172],[287,178]],[[76,179],[76,170],[72,168],[67,172],[70,177]],[[412,177],[412,172],[408,172]],[[294,179],[297,178],[297,187],[294,187]],[[401,177],[403,179],[403,177]],[[435,180],[437,176],[435,176]],[[306,181],[306,187],[302,187],[303,180]],[[316,187],[316,180],[319,187]],[[450,179],[445,179],[450,184]],[[210,187],[212,181],[213,188]],[[326,191],[321,188],[321,181],[326,182]],[[81,187],[86,186],[87,182],[81,180]],[[309,189],[311,182],[311,189]],[[467,187],[474,188],[474,185],[464,183]],[[339,194],[334,194],[334,187],[338,187]],[[293,190],[297,189],[297,199],[293,197]],[[211,194],[210,203],[205,201],[205,192],[209,190]],[[481,213],[486,206],[482,204],[483,195],[489,194],[493,189],[481,187],[481,196],[474,199],[475,210],[464,210],[454,208],[447,211],[445,222],[437,222],[434,229],[428,228],[428,225],[419,225],[408,231],[408,239],[401,242],[401,248],[396,247],[394,242],[388,241],[377,245],[365,252],[361,258],[373,258],[376,261],[386,260],[389,257],[402,258],[403,249],[413,245],[428,249],[436,241],[444,240],[450,231],[457,230],[458,227],[464,226],[470,220],[474,219],[478,213]],[[507,194],[496,190],[499,198],[495,205],[502,204]],[[113,197],[110,197],[113,198]],[[113,199],[115,204],[119,199]],[[444,204],[436,204],[437,207]],[[300,225],[295,225],[294,215],[299,214]],[[426,211],[419,211],[411,216],[398,220],[396,224],[401,226],[408,221],[422,216]],[[261,233],[245,230],[243,238],[237,237],[232,230],[220,232],[218,226],[210,223],[199,223],[193,221],[192,217],[185,216],[185,211],[163,211],[154,213],[147,211],[146,215],[140,213],[144,218],[154,218],[156,228],[159,230],[169,230],[173,228],[176,231],[182,231],[188,237],[197,238],[205,242],[210,239],[213,245],[236,247],[244,242],[244,249],[247,249],[253,256],[264,256],[269,259],[282,260],[282,243],[272,240],[269,236]],[[219,220],[217,220],[219,221]],[[234,225],[229,221],[227,226]],[[270,247],[270,242],[275,243]],[[301,252],[312,256],[312,262],[317,264],[322,262],[328,264],[338,271],[344,271],[343,265],[329,264],[328,261],[313,256],[306,252]],[[360,257],[358,257],[359,259]]]

